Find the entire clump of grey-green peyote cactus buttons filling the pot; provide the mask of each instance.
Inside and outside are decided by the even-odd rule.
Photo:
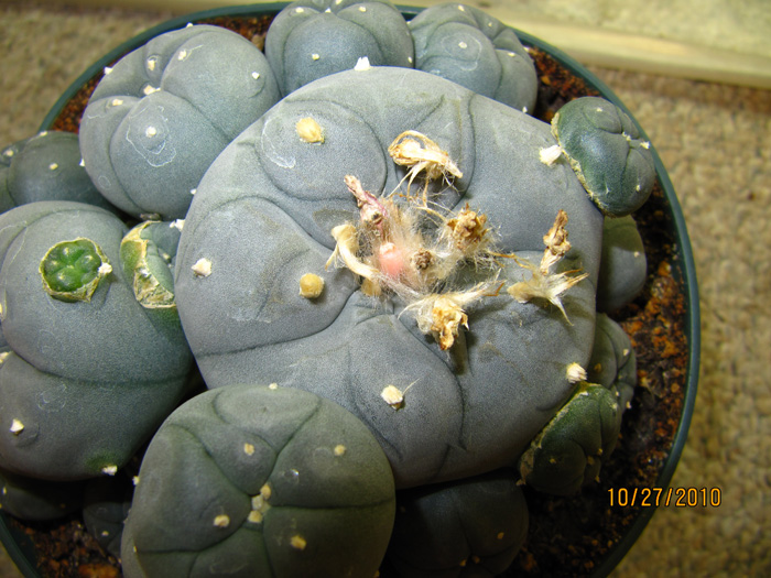
[[[160,34],[79,138],[7,148],[2,508],[85,505],[128,577],[506,569],[519,486],[618,439],[654,179],[617,106],[550,124],[536,86],[476,8],[300,0],[265,55]]]

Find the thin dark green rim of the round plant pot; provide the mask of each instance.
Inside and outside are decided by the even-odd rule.
[[[183,17],[177,17],[148,29],[146,31],[134,36],[133,39],[120,44],[115,50],[108,52],[99,61],[97,61],[89,68],[87,68],[67,88],[67,90],[65,90],[64,94],[62,94],[59,99],[56,101],[56,103],[52,107],[52,109],[44,118],[40,130],[48,130],[53,126],[56,118],[62,113],[67,102],[72,100],[73,97],[75,97],[78,90],[86,83],[100,75],[106,66],[109,66],[111,63],[113,63],[128,52],[131,52],[138,48],[139,46],[145,44],[150,39],[170,30],[184,28],[189,22],[197,22],[213,18],[275,15],[285,6],[287,6],[287,3],[289,2],[269,2],[251,6],[235,6],[204,10]],[[399,4],[398,8],[401,10],[402,14],[408,20],[411,20],[423,10],[422,8]],[[522,32],[517,29],[514,29],[514,32],[520,37],[523,44],[534,46],[547,53],[575,76],[582,78],[588,88],[595,89],[602,97],[607,98],[616,106],[620,107],[632,119],[634,124],[640,130],[642,138],[650,140],[648,139],[648,135],[645,134],[642,127],[640,127],[639,122],[634,119],[633,114],[623,105],[623,102],[621,102],[618,96],[616,96],[616,94],[605,83],[597,78],[597,76],[589,72],[585,66],[583,66],[577,61],[565,54],[560,48],[556,48],[551,44],[543,42],[542,40],[532,36],[531,34],[528,34],[526,32]],[[686,367],[683,413],[677,430],[675,432],[672,449],[670,450],[670,454],[665,459],[662,470],[659,473],[659,478],[656,480],[656,488],[667,488],[677,467],[677,462],[680,461],[680,457],[682,455],[683,447],[687,438],[688,426],[691,425],[691,417],[693,415],[694,405],[696,402],[701,352],[701,321],[698,286],[696,281],[696,266],[694,263],[691,241],[685,225],[685,218],[683,216],[683,211],[675,195],[674,187],[672,185],[672,182],[670,181],[666,170],[664,168],[661,157],[659,156],[653,145],[650,150],[653,154],[656,174],[659,177],[660,185],[664,192],[664,197],[669,205],[669,210],[671,214],[670,218],[675,232],[674,237],[676,239],[676,248],[675,258],[673,260],[673,266],[676,270],[675,274],[682,281],[686,292],[686,312],[684,330],[688,342],[688,360]],[[653,508],[642,509],[640,511],[634,522],[625,532],[622,538],[616,544],[616,546],[613,546],[613,548],[595,568],[591,576],[602,577],[610,574],[610,571],[626,556],[626,554],[632,547],[634,542],[637,542],[654,512],[655,509]],[[13,561],[17,564],[17,566],[24,576],[29,578],[37,578],[40,576],[35,566],[36,555],[34,553],[32,542],[30,541],[29,536],[24,535],[20,530],[12,526],[10,524],[8,514],[2,512],[0,512],[0,542],[2,542],[2,544],[6,546],[6,549],[8,550],[10,557],[13,559]]]

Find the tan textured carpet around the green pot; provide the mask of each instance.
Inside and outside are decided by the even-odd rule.
[[[34,134],[105,52],[170,18],[43,6],[0,3],[0,146]],[[719,508],[661,508],[613,576],[771,576],[771,91],[593,72],[645,129],[683,205],[703,349],[672,484],[723,492]],[[0,554],[0,577],[20,576]]]

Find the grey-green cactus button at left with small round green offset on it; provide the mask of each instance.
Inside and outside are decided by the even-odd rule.
[[[80,203],[0,216],[0,460],[51,480],[115,473],[182,396],[191,352],[176,314],[137,301],[124,225]],[[66,337],[65,337],[66,336]]]

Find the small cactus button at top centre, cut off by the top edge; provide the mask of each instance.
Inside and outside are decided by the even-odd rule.
[[[271,23],[265,56],[284,95],[360,58],[414,66],[410,29],[390,0],[296,0]]]

